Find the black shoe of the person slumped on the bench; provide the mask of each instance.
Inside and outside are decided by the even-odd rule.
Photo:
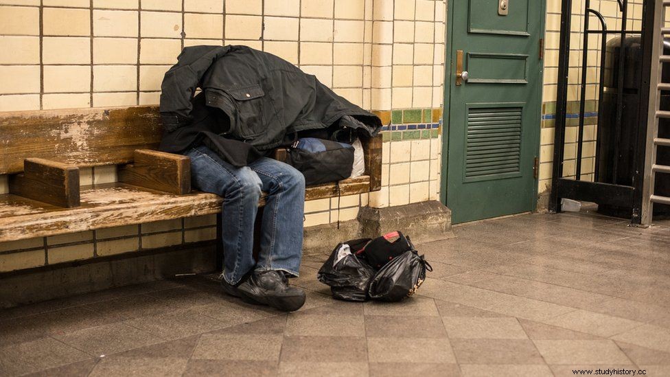
[[[255,305],[268,305],[275,309],[292,312],[305,304],[305,291],[288,285],[281,271],[254,272],[237,286],[221,280],[223,290],[231,296]]]

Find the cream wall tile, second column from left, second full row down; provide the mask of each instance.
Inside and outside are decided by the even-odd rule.
[[[91,38],[45,36],[42,48],[44,64],[91,63]]]

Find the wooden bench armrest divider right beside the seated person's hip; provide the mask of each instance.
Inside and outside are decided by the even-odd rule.
[[[135,150],[132,164],[118,170],[119,182],[170,194],[191,192],[191,161],[183,155],[157,150]]]

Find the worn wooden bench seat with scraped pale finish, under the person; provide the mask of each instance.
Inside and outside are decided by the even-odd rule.
[[[369,190],[369,176],[340,181],[341,196]],[[337,196],[337,185],[308,187],[307,200]],[[126,183],[82,187],[81,206],[62,208],[13,194],[0,195],[0,242],[91,229],[216,214],[223,199],[215,194],[167,194]],[[261,198],[259,205],[264,205]]]

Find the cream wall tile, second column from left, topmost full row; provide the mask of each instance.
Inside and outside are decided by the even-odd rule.
[[[42,18],[44,35],[91,35],[91,12],[87,9],[44,8]]]

